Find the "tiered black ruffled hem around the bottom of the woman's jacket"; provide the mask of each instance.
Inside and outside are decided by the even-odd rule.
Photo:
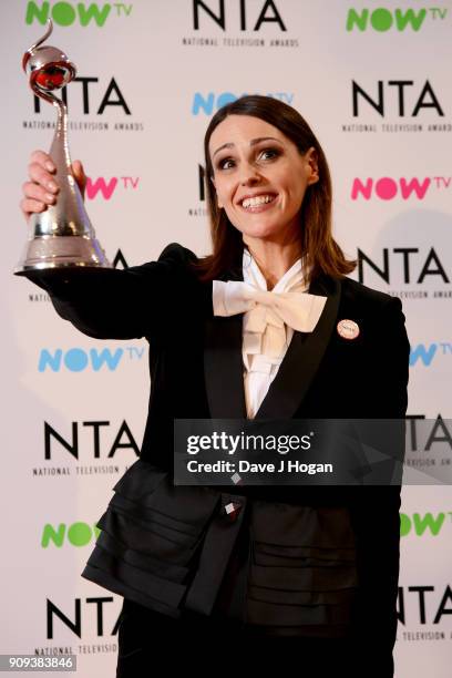
[[[114,490],[86,579],[172,617],[187,609],[291,635],[346,633],[358,587],[347,508],[173,486],[141,460]]]

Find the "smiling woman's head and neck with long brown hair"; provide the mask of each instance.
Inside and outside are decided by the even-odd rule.
[[[325,153],[295,109],[243,96],[212,119],[204,151],[213,254],[199,263],[202,279],[218,277],[244,244],[267,271],[269,289],[301,254],[307,282],[353,270],[331,234]]]

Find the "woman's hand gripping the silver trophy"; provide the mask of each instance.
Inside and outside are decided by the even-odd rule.
[[[28,220],[31,214],[45,212],[56,199],[59,186],[55,179],[55,166],[48,153],[34,151],[28,166],[29,182],[22,186],[23,198],[20,208]],[[72,163],[72,172],[82,196],[86,186],[86,175],[80,161]]]

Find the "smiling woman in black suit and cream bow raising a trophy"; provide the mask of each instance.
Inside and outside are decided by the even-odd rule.
[[[401,304],[346,277],[355,264],[332,238],[329,170],[306,121],[244,96],[212,119],[205,153],[210,256],[171,244],[143,266],[38,282],[82,332],[150,342],[141,458],[83,573],[124,596],[117,676],[147,675],[160,640],[199,635],[393,676],[400,486],[173,486],[174,419],[407,409]],[[32,156],[25,215],[54,201],[49,161]]]

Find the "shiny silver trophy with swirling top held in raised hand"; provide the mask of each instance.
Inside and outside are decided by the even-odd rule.
[[[75,66],[58,48],[40,47],[52,30],[53,24],[49,19],[45,35],[24,53],[22,60],[33,92],[58,110],[50,156],[56,167],[55,179],[60,187],[54,205],[30,216],[24,256],[14,270],[17,275],[28,277],[44,269],[112,267],[95,237],[72,173],[66,106],[53,94],[54,90],[60,90],[75,78]]]

